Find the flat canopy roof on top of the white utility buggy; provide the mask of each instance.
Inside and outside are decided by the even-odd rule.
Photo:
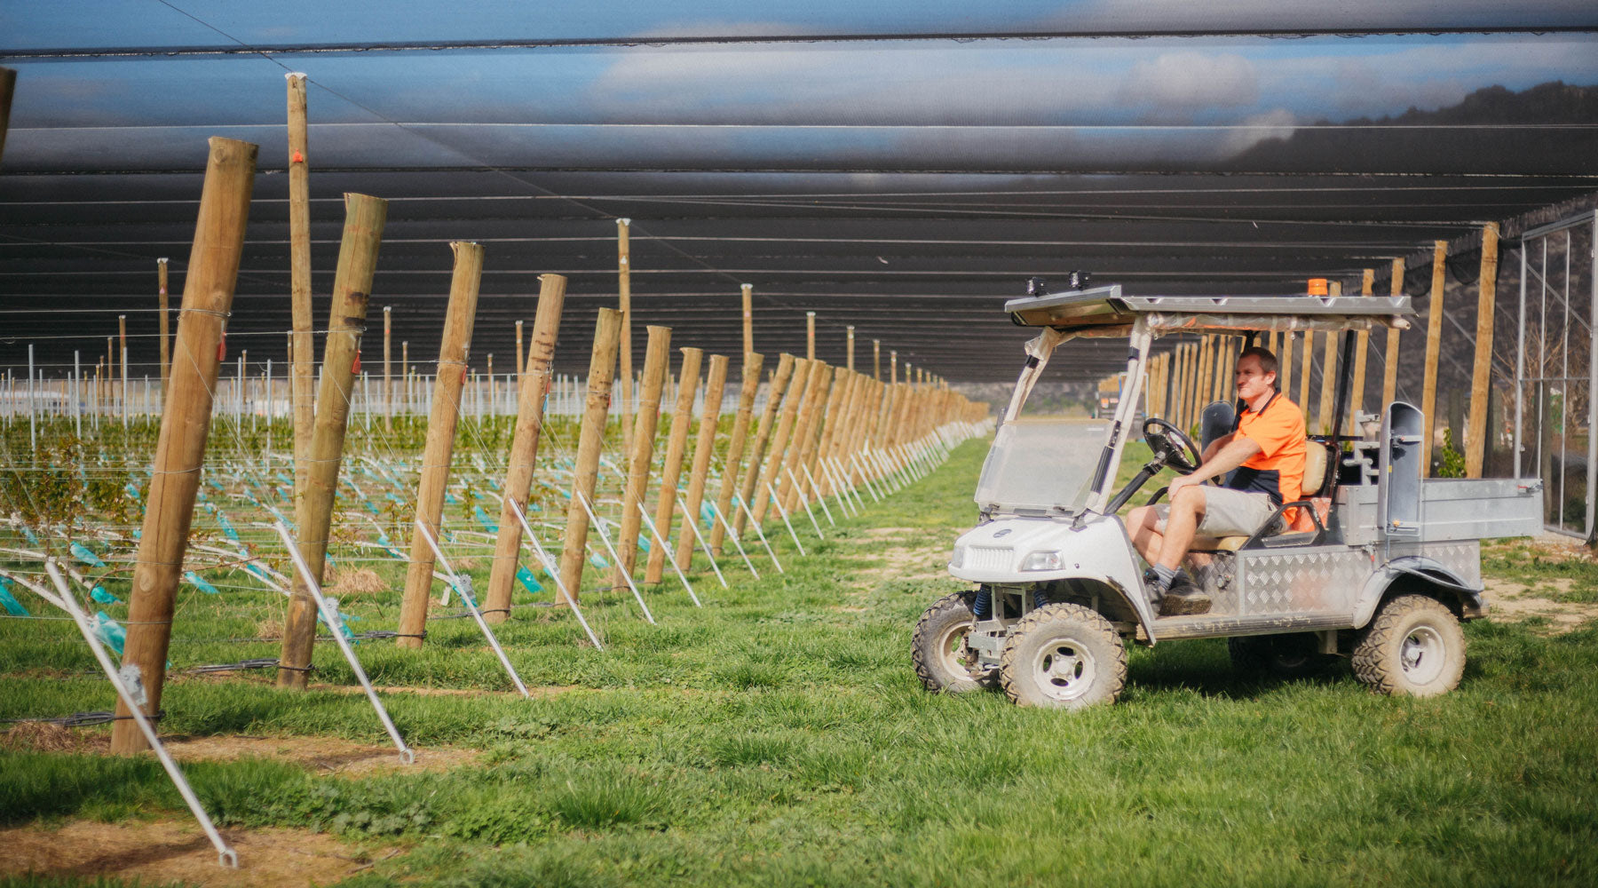
[[[1069,337],[1125,337],[1141,319],[1149,332],[1408,329],[1408,295],[1122,295],[1120,284],[1012,299],[1023,327]]]

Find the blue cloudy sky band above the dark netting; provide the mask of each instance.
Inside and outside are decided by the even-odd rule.
[[[1219,8],[1218,8],[1219,6]],[[839,2],[0,3],[21,50],[650,35],[1039,34],[1183,27],[1598,24],[1598,3],[1459,0],[1315,8]],[[1453,105],[1485,86],[1598,85],[1593,34],[879,40],[5,61],[22,86],[6,165],[189,168],[174,128],[283,139],[283,73],[312,81],[320,161],[339,166],[1000,166],[1213,161],[1317,121]],[[395,131],[395,125],[407,125]],[[1548,121],[1563,123],[1563,121]],[[382,137],[374,137],[376,134]],[[184,137],[176,137],[184,136]]]

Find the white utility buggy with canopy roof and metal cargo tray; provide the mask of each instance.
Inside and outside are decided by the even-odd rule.
[[[1457,685],[1462,620],[1486,613],[1480,540],[1542,530],[1539,479],[1433,479],[1421,466],[1422,417],[1401,401],[1344,430],[1355,332],[1408,326],[1409,297],[1123,295],[1119,286],[1013,299],[1012,321],[1040,327],[976,482],[980,521],[954,545],[949,573],[975,588],[936,601],[912,639],[928,690],[999,685],[1018,704],[1109,703],[1127,679],[1127,644],[1229,639],[1237,666],[1302,674],[1334,656],[1382,693]],[[1162,470],[1192,471],[1200,449],[1147,417],[1152,458],[1115,489],[1135,428],[1151,345],[1168,334],[1338,334],[1330,434],[1309,436],[1304,495],[1312,532],[1229,537],[1210,553],[1208,613],[1160,616],[1117,511]],[[1127,375],[1106,420],[1028,417],[1023,406],[1050,355],[1074,337],[1130,340]],[[1203,439],[1234,407],[1203,410]],[[1163,489],[1149,501],[1157,501]],[[1282,509],[1277,514],[1282,514]],[[1267,522],[1270,527],[1274,522]]]

